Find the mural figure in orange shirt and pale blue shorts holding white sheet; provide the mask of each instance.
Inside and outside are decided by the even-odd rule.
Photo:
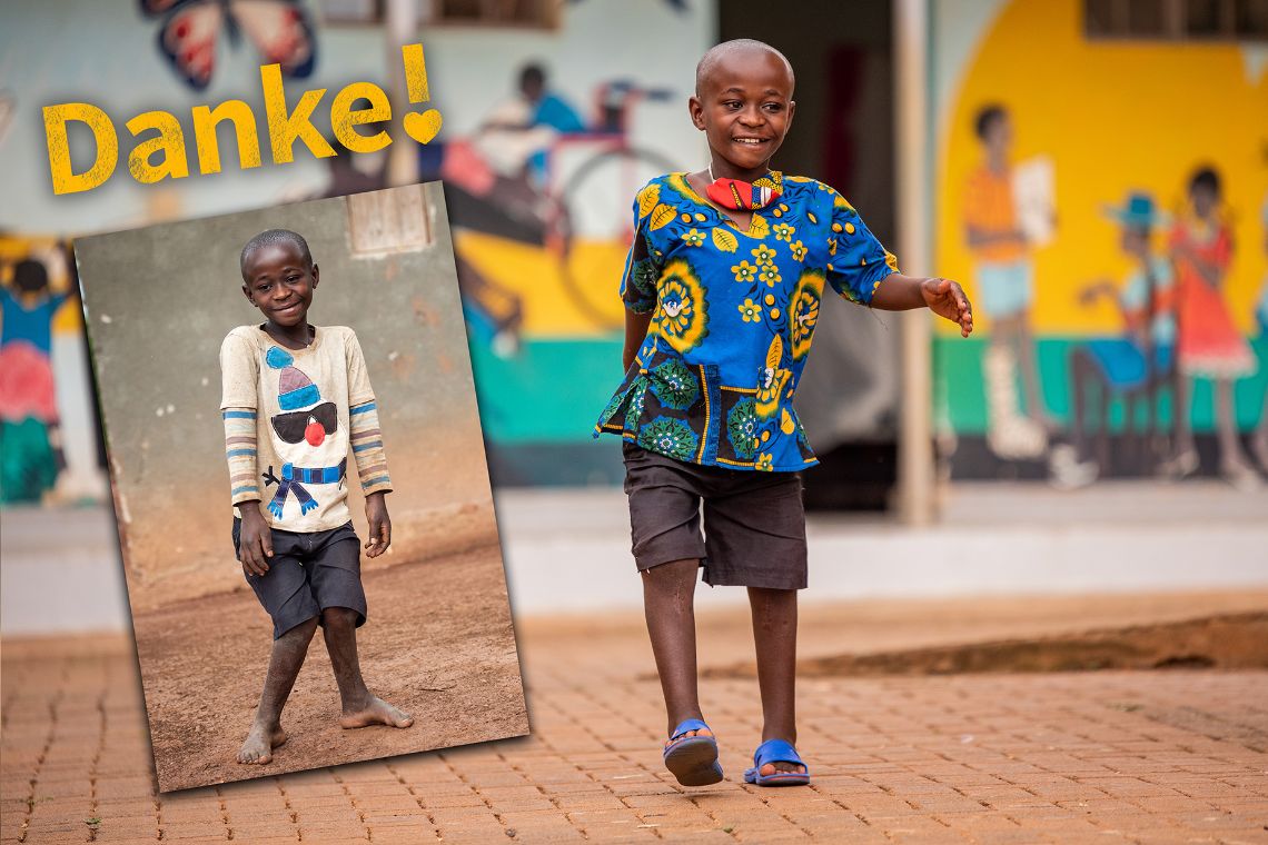
[[[1009,153],[1013,127],[1002,105],[978,111],[974,123],[984,160],[969,177],[965,232],[974,257],[976,302],[992,319],[983,356],[987,445],[1006,459],[1040,457],[1051,424],[1044,410],[1030,309],[1035,300],[1032,248],[1018,219]],[[1017,375],[1025,408],[1017,397]]]

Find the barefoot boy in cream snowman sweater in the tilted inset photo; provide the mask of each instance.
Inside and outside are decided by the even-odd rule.
[[[377,557],[392,542],[384,502],[392,481],[360,343],[350,328],[308,323],[320,271],[299,234],[261,232],[242,248],[241,269],[242,293],[265,322],[224,338],[221,410],[233,545],[273,618],[264,692],[237,758],[262,764],[287,741],[281,708],[318,625],[342,727],[410,727],[413,718],[366,689],[356,654],[366,604],[346,503],[349,448],[365,493],[365,554]]]

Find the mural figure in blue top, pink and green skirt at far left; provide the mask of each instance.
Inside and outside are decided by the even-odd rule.
[[[52,367],[52,326],[74,289],[49,289],[62,248],[4,267],[0,285],[0,502],[39,502],[66,467]]]

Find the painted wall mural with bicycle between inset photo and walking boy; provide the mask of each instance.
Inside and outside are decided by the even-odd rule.
[[[445,129],[420,151],[421,170],[445,182],[498,484],[621,478],[619,454],[591,429],[620,378],[616,291],[631,206],[650,179],[702,155],[685,104],[714,22],[711,3],[569,5],[548,34],[481,34],[492,58],[478,79],[464,79],[473,71],[462,35],[427,42],[448,94]],[[658,60],[648,62],[635,46],[653,41]],[[451,87],[446,66],[462,71]]]

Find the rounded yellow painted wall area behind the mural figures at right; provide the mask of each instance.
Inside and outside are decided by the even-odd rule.
[[[973,122],[979,108],[1000,103],[1013,118],[1013,158],[1044,155],[1056,167],[1058,237],[1035,253],[1036,332],[1121,327],[1110,304],[1084,308],[1077,300],[1087,281],[1121,279],[1130,269],[1102,208],[1148,190],[1174,215],[1202,163],[1224,181],[1236,242],[1226,299],[1249,332],[1268,274],[1260,212],[1268,198],[1268,67],[1253,77],[1249,65],[1227,43],[1088,41],[1079,0],[1006,4],[940,127],[938,272],[973,283],[962,213],[966,180],[983,156]],[[1164,243],[1160,236],[1159,248]],[[981,317],[989,331],[989,315]]]

